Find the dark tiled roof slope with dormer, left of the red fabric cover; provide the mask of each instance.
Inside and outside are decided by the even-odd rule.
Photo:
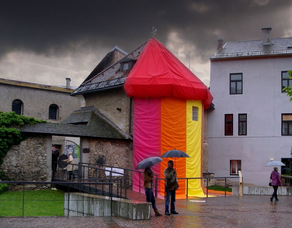
[[[126,55],[124,58],[132,58],[136,61],[143,51],[146,43],[131,52],[130,54]],[[131,68],[127,71],[120,71],[120,66],[121,61],[118,61],[112,66],[109,66],[98,75],[80,85],[74,92],[72,92],[72,95],[93,92],[108,87],[122,86],[125,83],[125,80],[129,72],[131,71]]]

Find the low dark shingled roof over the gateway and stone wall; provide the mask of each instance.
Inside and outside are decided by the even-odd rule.
[[[86,125],[80,125],[86,124]],[[61,124],[37,123],[27,124],[19,130],[25,133],[39,133],[55,136],[74,136],[87,138],[106,138],[131,140],[131,136],[94,107],[84,107],[72,112]]]

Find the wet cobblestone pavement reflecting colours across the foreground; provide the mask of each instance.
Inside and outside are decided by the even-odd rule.
[[[205,200],[191,202],[190,200]],[[164,205],[158,204],[164,214]],[[0,217],[0,227],[292,227],[292,197],[221,196],[177,200],[178,215],[132,221],[121,217]]]

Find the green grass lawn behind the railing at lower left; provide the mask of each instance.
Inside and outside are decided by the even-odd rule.
[[[24,191],[24,199],[24,216],[64,216],[63,191]],[[0,194],[0,216],[22,216],[22,206],[23,191],[6,191]]]

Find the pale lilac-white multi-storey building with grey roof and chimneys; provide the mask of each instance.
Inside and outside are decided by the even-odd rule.
[[[292,86],[292,37],[271,39],[271,30],[262,29],[262,40],[218,40],[210,57],[208,171],[215,176],[241,168],[245,183],[265,186],[273,170],[267,162],[291,163],[292,102],[282,88]]]

